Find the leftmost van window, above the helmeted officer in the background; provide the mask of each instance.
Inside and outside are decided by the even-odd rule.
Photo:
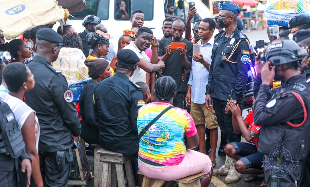
[[[71,14],[74,19],[84,19],[85,16],[94,15],[100,20],[109,19],[109,0],[87,0],[84,10],[82,12]]]

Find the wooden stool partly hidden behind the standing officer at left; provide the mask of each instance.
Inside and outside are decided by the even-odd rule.
[[[91,176],[90,176],[91,167],[89,167],[89,165],[88,165],[86,151],[85,151],[85,145],[84,145],[84,141],[82,140],[81,137],[80,137],[80,142],[81,142],[81,149],[82,149],[83,160],[84,160],[85,165],[82,165],[80,153],[78,152],[78,148],[75,149],[75,154],[76,154],[77,161],[78,161],[78,169],[80,171],[81,180],[69,180],[68,185],[82,185],[82,187],[86,187],[86,180],[91,179]],[[86,169],[86,177],[85,178],[84,178],[84,174],[83,174],[83,167],[84,167],[84,169]],[[70,172],[71,172],[71,169],[70,169]]]

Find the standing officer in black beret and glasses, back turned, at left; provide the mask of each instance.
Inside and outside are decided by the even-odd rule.
[[[67,80],[51,65],[58,57],[63,38],[53,29],[43,28],[37,32],[36,41],[37,55],[27,64],[36,84],[25,93],[25,102],[36,111],[40,123],[39,157],[43,184],[67,186],[73,161],[71,148],[80,135],[81,125]]]

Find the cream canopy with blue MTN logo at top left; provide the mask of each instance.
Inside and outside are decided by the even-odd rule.
[[[7,40],[30,28],[63,20],[69,16],[55,0],[10,0],[0,6],[0,30]]]

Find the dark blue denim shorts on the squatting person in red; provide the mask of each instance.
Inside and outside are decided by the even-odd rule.
[[[261,168],[263,163],[263,154],[257,152],[255,144],[244,142],[231,142],[233,148],[236,150],[236,154],[243,156],[240,160],[246,165],[246,168],[254,167]]]

